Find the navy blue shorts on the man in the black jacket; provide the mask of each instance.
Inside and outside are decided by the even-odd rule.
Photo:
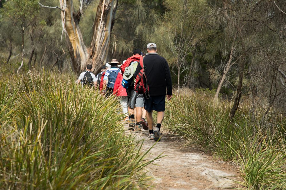
[[[149,99],[144,98],[144,107],[148,112],[165,111],[165,99],[166,95],[163,96],[151,96]]]

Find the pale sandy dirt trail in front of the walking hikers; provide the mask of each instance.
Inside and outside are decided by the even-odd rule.
[[[144,139],[143,151],[155,143],[143,133],[134,136],[136,140]],[[198,148],[180,148],[178,138],[170,134],[163,132],[161,137],[161,142],[148,153],[149,159],[161,153],[165,156],[148,166],[149,174],[154,176],[154,189],[230,189],[237,186],[231,179],[237,179],[239,172],[230,164],[214,160]]]

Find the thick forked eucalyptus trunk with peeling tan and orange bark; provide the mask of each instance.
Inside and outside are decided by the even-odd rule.
[[[81,10],[77,14],[74,13],[73,0],[59,0],[59,3],[62,9],[63,31],[66,35],[68,50],[75,72],[79,73],[85,70],[87,64],[92,65],[92,71],[99,70],[102,64],[107,61],[110,33],[118,0],[100,0],[94,20],[90,48],[85,46],[78,26]],[[74,15],[76,15],[76,18]]]

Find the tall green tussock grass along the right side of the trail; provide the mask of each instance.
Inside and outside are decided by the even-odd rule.
[[[214,103],[201,92],[176,94],[166,104],[169,129],[224,160],[239,164],[248,189],[286,189],[286,119],[263,117],[243,103],[233,119],[232,104]]]

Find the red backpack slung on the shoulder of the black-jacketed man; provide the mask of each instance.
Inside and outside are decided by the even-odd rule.
[[[143,94],[146,99],[149,99],[150,97],[149,85],[147,83],[147,77],[144,72],[146,67],[144,67],[144,64],[143,64],[143,58],[140,59],[139,64],[142,69],[139,71],[138,75],[136,76],[134,90],[138,94]]]

